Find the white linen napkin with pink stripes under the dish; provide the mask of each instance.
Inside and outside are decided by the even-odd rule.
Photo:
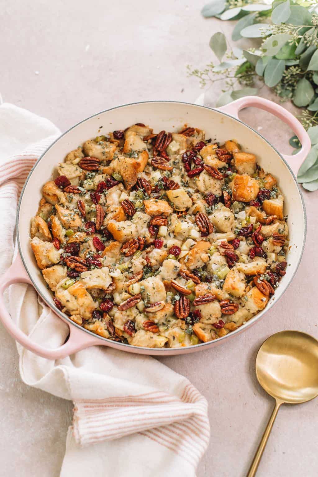
[[[0,106],[0,273],[12,263],[21,187],[59,133],[44,118],[10,104]],[[64,342],[68,326],[31,286],[10,287],[9,309],[34,341],[48,347]],[[26,384],[74,403],[61,477],[91,476],[92,469],[94,477],[195,476],[210,427],[207,402],[185,377],[149,356],[105,346],[55,362],[17,347]]]

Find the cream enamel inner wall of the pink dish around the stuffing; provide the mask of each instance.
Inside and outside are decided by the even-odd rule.
[[[277,151],[254,130],[240,121],[227,116],[217,110],[205,108],[194,104],[175,102],[147,102],[120,106],[77,124],[72,129],[62,135],[41,157],[35,165],[20,199],[20,209],[18,211],[17,226],[18,240],[21,257],[26,269],[33,281],[36,289],[42,298],[52,306],[52,295],[47,289],[45,281],[42,279],[41,271],[36,265],[33,252],[29,244],[30,219],[35,215],[39,201],[41,199],[41,188],[43,184],[56,176],[56,166],[63,162],[65,155],[72,149],[81,145],[87,139],[99,134],[107,134],[109,131],[124,129],[134,123],[149,124],[154,131],[162,129],[177,131],[185,123],[205,130],[205,137],[211,137],[222,144],[226,139],[235,139],[246,152],[256,154],[257,162],[266,170],[270,171],[278,179],[279,187],[285,196],[284,213],[288,215],[288,227],[290,238],[290,250],[287,256],[287,273],[282,278],[275,296],[272,297],[267,307],[256,317],[240,328],[245,328],[252,322],[259,319],[271,306],[280,298],[292,280],[299,260],[302,255],[306,235],[306,216],[300,191],[296,180]],[[103,126],[102,129],[101,126]],[[55,309],[56,311],[56,309]],[[83,331],[85,332],[85,331]],[[224,338],[233,335],[229,333]],[[101,338],[103,340],[103,338]],[[107,342],[109,342],[107,340]],[[111,342],[109,342],[111,344]],[[193,348],[199,349],[208,344],[197,345]],[[118,343],[116,343],[118,347]],[[125,350],[129,351],[125,346]],[[148,350],[154,354],[154,350]],[[185,351],[185,348],[178,350],[157,350],[155,354],[169,354],[169,351],[178,353]],[[194,350],[191,350],[194,351]],[[138,352],[135,348],[134,352]],[[173,353],[173,354],[174,354]]]

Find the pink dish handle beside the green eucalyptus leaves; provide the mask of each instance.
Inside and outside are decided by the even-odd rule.
[[[274,114],[274,116],[277,116],[279,119],[284,121],[284,123],[286,123],[297,135],[301,143],[300,151],[294,156],[282,154],[295,176],[297,176],[298,169],[306,159],[311,148],[310,137],[308,136],[307,131],[304,129],[302,124],[300,124],[298,119],[289,111],[287,111],[287,109],[283,108],[283,106],[280,106],[273,101],[269,101],[268,99],[260,98],[259,96],[245,96],[233,101],[233,103],[226,104],[225,106],[221,106],[220,108],[216,109],[217,111],[229,114],[230,116],[238,119],[239,111],[249,106],[264,109],[264,111]]]

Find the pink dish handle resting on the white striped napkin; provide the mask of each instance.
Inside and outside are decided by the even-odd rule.
[[[102,340],[91,336],[89,333],[83,333],[82,329],[77,328],[76,325],[70,326],[70,335],[68,341],[62,344],[62,346],[59,348],[45,348],[44,346],[32,341],[31,338],[22,332],[18,325],[11,319],[4,303],[4,291],[13,283],[28,283],[32,285],[19,254],[13,261],[10,269],[7,270],[0,279],[0,320],[10,335],[24,348],[32,351],[35,354],[38,354],[39,356],[42,356],[42,358],[55,360],[65,358],[66,356],[76,353],[77,351],[80,351],[84,348],[88,348],[89,346],[101,344]],[[53,311],[50,312],[53,313]]]

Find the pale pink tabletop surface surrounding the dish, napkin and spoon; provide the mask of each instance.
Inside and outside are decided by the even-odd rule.
[[[62,131],[90,114],[148,99],[194,101],[201,93],[186,64],[204,66],[215,31],[231,23],[204,20],[205,1],[137,0],[1,2],[0,93],[6,102],[51,119]],[[237,45],[236,45],[237,46]],[[210,90],[217,98],[220,85]],[[267,89],[262,95],[271,97]],[[277,98],[276,98],[277,100]],[[281,152],[290,132],[267,113],[242,112]],[[255,379],[260,344],[272,333],[299,329],[318,338],[318,193],[304,193],[308,214],[305,253],[297,276],[263,321],[221,347],[162,359],[185,374],[209,402],[210,446],[198,477],[243,477],[273,400]],[[59,474],[72,403],[25,386],[10,336],[0,333],[0,476]],[[258,476],[316,477],[318,400],[283,406]],[[106,475],[106,473],[105,473]]]

